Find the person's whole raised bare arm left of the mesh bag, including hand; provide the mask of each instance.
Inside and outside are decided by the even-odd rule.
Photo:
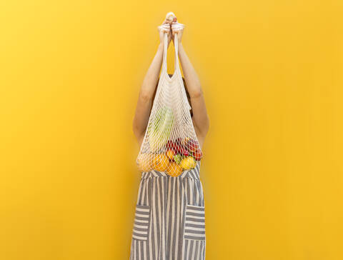
[[[170,24],[168,21],[164,20],[162,24]],[[157,82],[159,80],[159,73],[161,71],[161,64],[163,58],[164,49],[164,31],[159,31],[160,44],[152,60],[146,75],[144,76],[143,83],[141,84],[141,89],[139,90],[138,101],[136,105],[136,112],[134,115],[134,121],[132,124],[132,129],[134,135],[139,142],[139,145],[143,141],[144,134],[146,131],[146,126],[149,121],[152,98],[154,96],[154,91],[156,89]],[[172,40],[172,34],[168,33],[168,46]]]

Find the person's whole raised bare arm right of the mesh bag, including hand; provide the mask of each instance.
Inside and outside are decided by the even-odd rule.
[[[172,24],[175,24],[175,22],[172,22]],[[182,46],[181,39],[183,30],[173,31],[172,34],[173,42],[174,34],[177,34],[178,38],[179,60],[182,66],[182,71],[184,71],[184,80],[186,81],[187,90],[191,98],[193,124],[195,130],[197,131],[198,138],[202,139],[203,141],[204,137],[209,131],[209,116],[207,115],[202,86],[200,84],[199,77],[197,76],[197,72],[192,66],[192,63],[189,60],[186,51],[184,50],[184,46]]]

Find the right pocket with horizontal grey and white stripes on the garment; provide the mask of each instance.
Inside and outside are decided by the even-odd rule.
[[[184,239],[205,240],[205,207],[187,204]]]

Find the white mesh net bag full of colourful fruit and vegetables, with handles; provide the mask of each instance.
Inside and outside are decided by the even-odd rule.
[[[173,31],[183,28],[184,24],[172,25]],[[164,30],[161,75],[136,164],[140,171],[164,171],[170,176],[179,176],[202,159],[202,149],[194,131],[191,106],[179,67],[178,35],[174,35],[175,71],[170,77],[166,53],[168,33],[172,32],[169,32],[169,24],[159,29]]]

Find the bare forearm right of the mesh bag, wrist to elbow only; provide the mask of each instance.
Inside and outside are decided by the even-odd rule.
[[[182,46],[182,43],[179,43],[179,59],[182,66],[182,71],[184,71],[184,80],[187,84],[189,96],[191,96],[191,98],[194,96],[199,96],[199,94],[202,94],[200,80],[186,54],[186,51],[184,51],[184,46]]]

